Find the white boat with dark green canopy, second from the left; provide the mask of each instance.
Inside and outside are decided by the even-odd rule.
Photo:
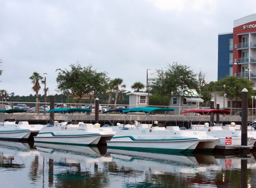
[[[70,108],[70,109],[53,109],[48,112],[90,112],[90,109]],[[55,124],[43,127],[37,136],[34,136],[34,142],[74,144],[74,145],[96,145],[102,134],[95,127],[87,124]]]

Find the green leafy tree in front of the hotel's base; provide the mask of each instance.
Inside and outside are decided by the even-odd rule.
[[[216,82],[217,90],[220,96],[224,96],[224,85],[226,98],[230,100],[230,107],[232,108],[232,100],[234,98],[242,98],[242,90],[248,90],[248,96],[254,95],[252,90],[253,82],[247,78],[238,78],[236,76],[226,76]]]

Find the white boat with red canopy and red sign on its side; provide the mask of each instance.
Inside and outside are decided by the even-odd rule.
[[[182,114],[186,113],[198,113],[206,116],[209,114],[230,114],[230,111],[216,109],[195,109],[182,112]],[[203,130],[208,136],[215,136],[219,138],[220,140],[215,146],[216,149],[234,150],[242,147],[241,131],[235,130],[234,126],[223,127],[222,124],[214,124],[212,126],[209,126],[209,123],[205,123],[203,125],[193,125],[192,123],[190,124],[192,130]],[[254,137],[248,136],[248,148],[252,148],[255,142],[256,139]]]

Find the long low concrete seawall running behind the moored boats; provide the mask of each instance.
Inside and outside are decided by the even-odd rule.
[[[206,117],[203,117],[203,116],[186,116],[186,118],[184,118],[184,116],[182,115],[172,115],[172,116],[165,116],[164,114],[155,114],[155,115],[152,115],[152,116],[147,116],[145,118],[145,116],[138,116],[138,115],[135,115],[135,114],[130,114],[129,115],[130,119],[132,121],[134,120],[138,120],[138,121],[142,121],[143,120],[143,123],[146,122],[146,121],[150,121],[152,122],[152,120],[156,120],[158,122],[187,122],[186,118],[190,121],[190,122],[194,122],[195,124],[198,124],[198,122],[201,122],[201,124],[204,124],[204,122],[210,122],[210,116],[206,116]],[[12,116],[11,115],[8,115],[8,114],[5,114],[5,119],[9,119],[9,118],[14,118],[15,120],[17,121],[20,121],[20,120],[26,120],[30,123],[40,123],[40,124],[45,124],[45,122],[48,122],[49,123],[49,116],[47,114],[20,114],[20,113],[16,113],[16,114],[13,114]],[[81,114],[81,113],[76,113],[76,114],[73,114],[73,115],[67,115],[67,116],[64,116],[61,114],[55,114],[55,120],[76,120],[76,121],[84,121],[84,122],[88,122],[88,123],[93,123],[94,124],[94,121],[95,121],[95,114],[90,114],[90,115],[84,115],[84,114]],[[115,122],[115,124],[117,122],[126,122],[128,123],[128,118],[126,118],[125,116],[117,116],[115,114],[109,114],[108,115],[108,119],[111,121],[111,122]],[[99,114],[99,121],[102,123],[104,122],[105,124],[110,124],[108,119],[106,118],[105,114]],[[214,120],[216,121],[216,116],[214,117]],[[251,122],[252,121],[252,116],[249,116],[248,117],[248,122]],[[240,124],[239,122],[241,122],[241,117],[240,116],[226,116],[226,117],[223,117],[223,116],[220,116],[220,122],[223,122],[224,124],[230,124],[230,122],[236,122],[236,124]]]

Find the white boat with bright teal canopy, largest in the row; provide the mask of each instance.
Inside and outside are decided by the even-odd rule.
[[[127,112],[173,112],[172,108],[137,107],[124,110]],[[148,128],[133,128],[118,130],[110,141],[108,148],[132,148],[138,150],[159,150],[169,152],[192,152],[199,143],[198,135],[193,132],[182,132],[176,126],[167,128],[152,126]]]

